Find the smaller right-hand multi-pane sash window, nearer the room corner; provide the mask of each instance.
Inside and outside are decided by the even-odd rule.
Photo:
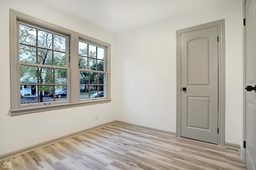
[[[104,48],[79,41],[80,99],[105,97]]]

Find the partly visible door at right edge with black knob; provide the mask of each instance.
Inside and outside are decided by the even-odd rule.
[[[246,0],[245,18],[245,162],[256,170],[256,0]]]

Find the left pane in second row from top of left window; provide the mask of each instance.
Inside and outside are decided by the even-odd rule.
[[[20,44],[20,62],[36,64],[36,47]]]

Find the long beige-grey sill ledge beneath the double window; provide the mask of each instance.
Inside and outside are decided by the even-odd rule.
[[[72,108],[78,106],[86,106],[91,104],[101,104],[111,102],[112,99],[104,99],[104,100],[96,100],[96,101],[86,101],[86,102],[78,102],[78,103],[65,103],[65,104],[56,104],[52,106],[39,106],[33,108],[21,108],[10,110],[11,116],[17,116],[22,114],[30,114],[30,113],[38,113],[38,112],[46,112],[50,110],[58,110],[64,108]]]

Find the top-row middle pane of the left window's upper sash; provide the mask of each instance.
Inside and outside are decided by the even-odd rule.
[[[38,46],[52,49],[52,33],[38,30]]]

